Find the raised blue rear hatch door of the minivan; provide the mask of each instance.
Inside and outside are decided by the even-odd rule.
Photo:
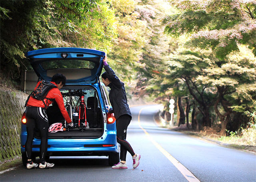
[[[99,81],[105,53],[84,48],[49,48],[25,54],[37,76],[50,80],[56,73],[66,76],[66,84],[93,84]]]

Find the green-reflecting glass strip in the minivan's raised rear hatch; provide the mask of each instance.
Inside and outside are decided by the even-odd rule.
[[[92,61],[79,60],[79,59],[65,59],[65,60],[51,60],[41,63],[44,70],[60,69],[60,68],[86,68],[93,69],[95,63]]]

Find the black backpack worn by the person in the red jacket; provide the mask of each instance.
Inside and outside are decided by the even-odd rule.
[[[26,100],[26,104],[24,107],[27,106],[30,96],[32,96],[32,98],[35,98],[37,100],[42,100],[44,103],[44,99],[46,98],[46,95],[52,88],[57,88],[57,86],[48,80],[42,80],[40,82],[40,84],[38,85],[38,87],[36,87],[36,89],[33,92],[31,92],[31,94],[28,96],[28,99]],[[46,104],[47,104],[48,100],[53,102],[54,99],[50,99],[50,98],[46,98],[46,99],[47,100],[46,100],[46,103],[44,103],[44,106],[47,109]]]

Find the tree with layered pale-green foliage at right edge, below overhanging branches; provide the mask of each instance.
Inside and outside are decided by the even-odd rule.
[[[230,55],[221,67],[206,68],[207,74],[198,77],[199,82],[216,87],[214,110],[222,123],[221,135],[225,135],[232,113],[256,109],[256,58],[245,46],[238,47],[240,53]]]

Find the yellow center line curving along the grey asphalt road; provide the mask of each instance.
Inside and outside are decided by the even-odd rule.
[[[172,162],[172,164],[174,164],[174,166],[181,172],[181,174],[189,181],[189,182],[200,182],[198,180],[198,178],[196,178],[196,176],[194,176],[194,174],[192,174],[192,172],[190,172],[185,166],[183,166],[178,160],[176,160],[174,157],[172,157],[172,155],[170,155],[163,147],[161,147],[161,145],[159,145],[150,135],[149,133],[146,131],[146,129],[144,129],[141,125],[140,125],[140,113],[142,112],[142,110],[146,109],[146,108],[150,108],[152,106],[149,107],[145,107],[142,108],[139,112],[138,115],[138,123],[140,128],[144,131],[144,133],[146,134],[146,136],[150,139],[150,141],[156,146],[156,148],[162,152],[162,154],[164,154],[164,156],[170,160],[170,162]]]

